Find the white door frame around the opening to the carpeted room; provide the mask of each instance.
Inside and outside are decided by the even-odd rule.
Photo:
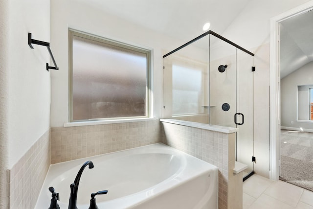
[[[313,9],[313,0],[275,16],[269,21],[269,179],[278,181],[280,165],[280,29],[279,23]]]

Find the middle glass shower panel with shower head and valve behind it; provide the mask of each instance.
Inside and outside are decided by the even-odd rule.
[[[236,47],[210,35],[210,125],[236,127]]]

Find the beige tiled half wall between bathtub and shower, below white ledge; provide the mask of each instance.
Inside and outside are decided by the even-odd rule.
[[[235,175],[235,133],[162,122],[162,142],[219,168],[219,209],[242,209],[242,172]]]

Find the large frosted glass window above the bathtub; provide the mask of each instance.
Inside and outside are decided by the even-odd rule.
[[[71,121],[148,117],[150,51],[71,35]]]

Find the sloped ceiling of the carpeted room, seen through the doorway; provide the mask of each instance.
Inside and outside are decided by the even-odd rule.
[[[313,61],[313,11],[281,23],[281,78]]]

